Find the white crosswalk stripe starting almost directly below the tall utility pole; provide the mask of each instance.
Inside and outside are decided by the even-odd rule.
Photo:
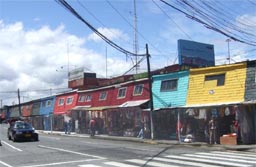
[[[148,158],[148,159],[151,159],[151,158]],[[177,159],[167,159],[167,158],[158,158],[158,157],[154,157],[153,160],[171,162],[171,163],[177,163],[177,164],[183,164],[183,165],[189,165],[189,166],[198,166],[198,167],[220,167],[217,165],[207,165],[207,164],[198,163],[198,162],[188,162],[188,161],[181,161]]]

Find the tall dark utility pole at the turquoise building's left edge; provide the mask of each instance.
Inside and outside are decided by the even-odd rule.
[[[146,56],[147,56],[147,66],[148,66],[148,86],[149,86],[149,105],[150,105],[150,126],[151,126],[151,139],[154,139],[154,124],[153,124],[153,96],[152,96],[152,80],[151,80],[151,71],[150,71],[150,62],[149,62],[149,53],[148,53],[148,44],[146,44]]]

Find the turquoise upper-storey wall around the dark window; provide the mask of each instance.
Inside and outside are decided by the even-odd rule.
[[[179,71],[152,77],[152,93],[154,109],[178,107],[186,105],[189,71]],[[161,92],[161,81],[178,79],[177,90]]]

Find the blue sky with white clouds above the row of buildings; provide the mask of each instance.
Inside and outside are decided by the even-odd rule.
[[[134,51],[133,0],[67,2],[110,40]],[[256,29],[255,0],[205,2],[225,9],[234,24],[240,19]],[[138,52],[145,53],[145,45],[149,45],[152,69],[178,63],[178,39],[213,44],[216,64],[228,62],[228,37],[190,20],[159,0],[136,0],[136,7]],[[4,99],[4,104],[17,103],[14,92],[18,88],[24,91],[24,101],[50,94],[32,90],[66,88],[68,65],[69,69],[84,67],[98,77],[113,77],[124,74],[134,61],[99,39],[51,0],[0,0],[0,37],[0,99]],[[254,49],[255,46],[231,41],[232,62],[255,59]],[[139,70],[145,69],[143,61]]]

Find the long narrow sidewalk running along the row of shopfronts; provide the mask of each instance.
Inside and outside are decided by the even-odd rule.
[[[89,134],[77,134],[72,132],[70,135],[65,134],[61,131],[43,131],[37,130],[38,133],[49,134],[49,135],[62,135],[62,136],[75,136],[80,138],[94,138],[94,139],[103,139],[103,140],[115,140],[115,141],[130,141],[130,142],[138,142],[138,143],[147,143],[147,144],[166,144],[166,145],[176,145],[176,146],[188,146],[188,147],[201,147],[207,148],[209,150],[234,150],[234,151],[250,151],[256,152],[256,144],[253,145],[220,145],[214,144],[210,145],[205,142],[191,142],[184,143],[176,140],[151,140],[151,139],[141,139],[136,137],[124,137],[124,136],[109,136],[109,135],[95,135],[91,137]],[[40,137],[39,137],[40,139]]]

